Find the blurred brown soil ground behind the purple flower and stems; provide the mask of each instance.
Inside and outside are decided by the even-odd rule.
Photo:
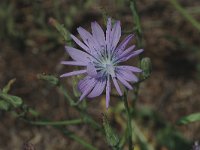
[[[179,2],[200,20],[200,1]],[[142,23],[143,56],[151,58],[153,65],[151,77],[140,86],[137,107],[152,108],[163,120],[174,125],[184,138],[191,142],[200,140],[200,123],[176,125],[182,116],[200,111],[200,33],[169,1],[140,0],[137,6]],[[105,14],[120,20],[124,33],[134,28],[126,0],[1,1],[0,88],[16,78],[10,93],[22,97],[42,116],[53,120],[77,117],[78,113],[66,104],[57,88],[37,79],[40,73],[59,76],[72,69],[60,64],[68,59],[65,43],[48,20],[55,18],[70,33],[77,35],[76,28],[82,26],[90,30],[91,21],[98,21],[105,29]],[[137,64],[137,60],[129,63]],[[61,81],[72,91],[71,79]],[[101,113],[106,111],[101,101],[103,97],[88,101],[89,113],[99,123]],[[115,98],[111,99],[111,107],[117,102]],[[87,125],[70,126],[69,129],[98,149],[110,149],[105,139],[99,133],[94,134]],[[16,119],[10,112],[0,111],[0,150],[21,150],[24,144],[31,146],[30,143],[36,150],[85,149],[51,126],[33,126]],[[168,148],[160,145],[155,149]]]

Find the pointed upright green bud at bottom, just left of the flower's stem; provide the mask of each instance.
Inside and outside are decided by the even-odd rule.
[[[106,140],[108,144],[112,146],[113,149],[117,149],[119,147],[119,137],[110,126],[108,118],[105,114],[103,114],[103,127],[105,130]]]

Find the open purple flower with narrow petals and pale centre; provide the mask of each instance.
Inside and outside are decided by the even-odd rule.
[[[61,62],[64,65],[83,66],[84,69],[65,73],[61,77],[86,74],[86,77],[78,83],[78,89],[82,93],[80,100],[84,97],[97,97],[106,89],[106,107],[108,108],[111,81],[113,81],[117,92],[121,96],[122,91],[119,82],[132,90],[133,87],[129,82],[137,82],[138,78],[134,73],[142,71],[133,66],[119,66],[119,63],[139,55],[143,52],[143,49],[134,50],[135,45],[126,48],[129,41],[133,38],[133,34],[127,36],[118,44],[121,37],[120,21],[116,21],[112,26],[111,18],[109,18],[105,34],[97,22],[92,22],[91,28],[92,34],[82,27],[77,28],[83,42],[74,35],[71,35],[71,38],[84,51],[66,46],[65,49],[73,61]]]

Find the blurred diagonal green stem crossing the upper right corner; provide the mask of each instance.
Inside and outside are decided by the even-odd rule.
[[[178,2],[177,0],[169,0],[179,13],[185,17],[198,31],[200,31],[200,23],[196,21]]]

